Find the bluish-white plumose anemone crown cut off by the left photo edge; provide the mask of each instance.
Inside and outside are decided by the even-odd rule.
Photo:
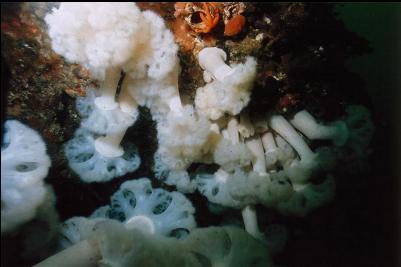
[[[44,178],[51,161],[46,145],[33,129],[16,120],[5,123],[1,148],[1,232],[35,217],[47,189]]]

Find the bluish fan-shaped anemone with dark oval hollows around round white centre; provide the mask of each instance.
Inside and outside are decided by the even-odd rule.
[[[111,197],[111,205],[95,212],[97,218],[119,220],[128,229],[174,235],[196,227],[195,209],[179,192],[153,189],[149,179],[124,182]]]

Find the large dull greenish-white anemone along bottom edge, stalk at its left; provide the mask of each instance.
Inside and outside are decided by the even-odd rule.
[[[235,227],[199,228],[177,240],[111,220],[88,226],[87,239],[36,266],[59,266],[66,258],[74,266],[272,266],[266,243]]]

